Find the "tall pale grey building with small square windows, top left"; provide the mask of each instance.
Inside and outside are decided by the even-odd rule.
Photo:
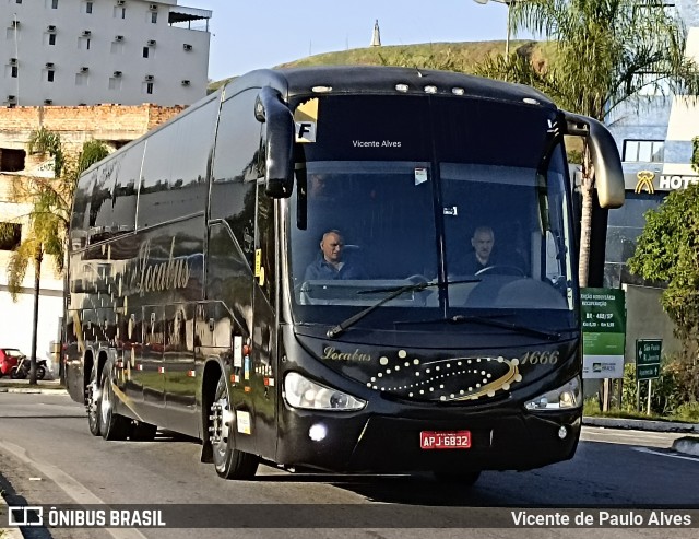
[[[189,105],[212,12],[177,0],[0,0],[0,105]]]

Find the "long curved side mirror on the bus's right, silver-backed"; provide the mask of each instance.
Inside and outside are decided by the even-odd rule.
[[[594,165],[595,187],[602,208],[624,206],[624,169],[621,157],[608,129],[587,116],[564,112],[567,134],[585,137]]]

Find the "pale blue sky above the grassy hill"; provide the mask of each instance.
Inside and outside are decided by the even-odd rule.
[[[507,7],[474,0],[178,0],[213,11],[209,78],[217,81],[322,52],[381,45],[503,40]],[[514,36],[511,36],[514,37]]]

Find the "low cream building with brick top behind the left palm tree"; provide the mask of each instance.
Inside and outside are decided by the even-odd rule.
[[[5,0],[0,0],[5,1]],[[26,1],[26,0],[25,0]],[[48,155],[31,155],[26,142],[39,126],[61,137],[66,153],[75,154],[91,139],[118,148],[167,121],[181,106],[147,105],[0,107],[0,223],[11,225],[13,238],[0,238],[0,347],[32,351],[34,319],[34,268],[27,267],[16,296],[10,294],[7,269],[14,249],[29,231],[31,203],[17,203],[12,196],[15,181],[54,177],[54,161]],[[51,341],[60,340],[63,316],[63,278],[56,271],[52,257],[42,263],[39,314],[37,317],[37,358],[47,359]],[[56,365],[49,365],[56,371]]]

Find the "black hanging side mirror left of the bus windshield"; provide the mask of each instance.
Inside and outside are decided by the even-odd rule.
[[[294,117],[279,92],[265,86],[254,103],[254,117],[264,124],[266,141],[264,192],[288,198],[294,186]]]

